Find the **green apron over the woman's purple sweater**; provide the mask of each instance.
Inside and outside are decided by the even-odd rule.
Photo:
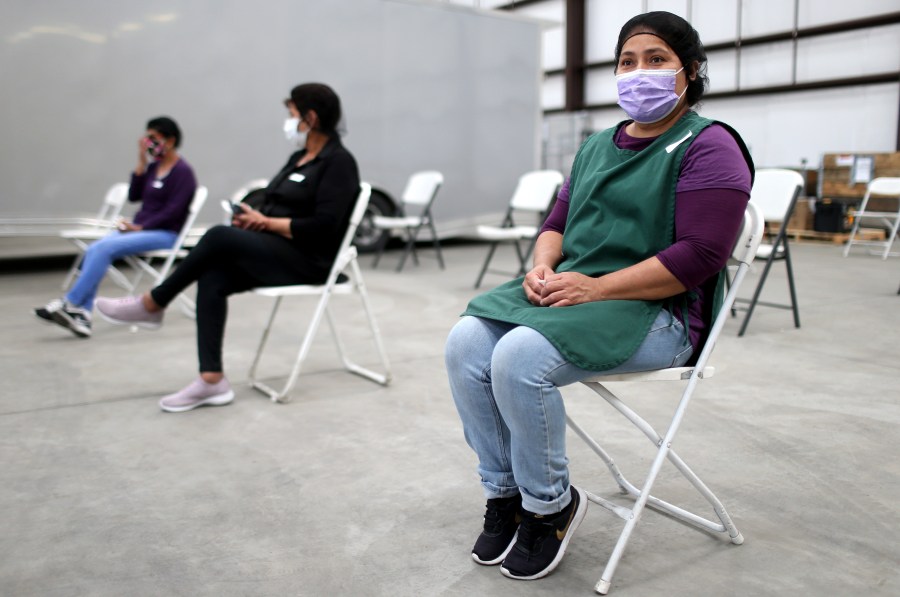
[[[639,152],[616,147],[613,136],[618,127],[591,136],[572,165],[563,260],[556,272],[599,277],[670,246],[681,160],[700,131],[712,123],[688,111]],[[534,328],[566,360],[591,371],[627,361],[665,302],[612,300],[540,307],[528,302],[523,279],[475,297],[464,315]]]

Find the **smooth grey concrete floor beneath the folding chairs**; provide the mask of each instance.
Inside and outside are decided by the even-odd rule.
[[[743,338],[730,322],[717,375],[678,438],[746,542],[647,512],[611,594],[900,594],[900,262],[793,247],[803,327],[765,308]],[[484,253],[455,245],[447,270],[424,258],[401,274],[391,256],[378,270],[363,258],[394,369],[388,388],[344,373],[323,333],[293,402],[269,402],[245,383],[269,303],[234,297],[225,357],[237,399],[176,415],[156,400],[194,375],[191,320],[173,310],[161,331],[139,333],[100,321],[79,340],[30,314],[58,293],[64,272],[7,268],[0,594],[591,595],[620,529],[596,506],[544,580],[508,580],[469,557],[483,499],[442,352]],[[785,288],[776,264],[766,296],[780,300]],[[363,322],[357,303],[334,305],[349,343],[376,366],[354,329]],[[281,315],[264,365],[274,381],[309,310],[298,299]],[[658,405],[651,420],[664,420],[677,392],[645,385],[623,392],[639,408]],[[565,395],[642,479],[646,440],[586,388]],[[569,455],[576,484],[617,495],[574,435]],[[698,503],[668,468],[656,489]]]

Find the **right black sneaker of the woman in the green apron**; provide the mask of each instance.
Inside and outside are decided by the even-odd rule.
[[[569,539],[584,520],[587,498],[572,485],[572,501],[559,514],[541,516],[522,511],[518,538],[503,560],[500,572],[517,580],[534,580],[550,574],[559,565]]]

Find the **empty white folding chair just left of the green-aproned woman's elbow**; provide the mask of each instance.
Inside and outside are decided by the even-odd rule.
[[[509,201],[509,208],[506,210],[503,222],[499,226],[478,226],[476,228],[478,238],[491,241],[491,246],[488,249],[487,257],[485,257],[484,265],[481,266],[481,271],[475,279],[475,288],[481,286],[481,280],[488,271],[501,273],[488,269],[491,259],[493,259],[497,250],[497,245],[501,242],[512,242],[516,248],[516,256],[519,258],[519,270],[514,275],[521,276],[528,271],[528,257],[531,255],[531,251],[534,250],[534,243],[537,240],[540,224],[546,217],[547,208],[552,203],[563,180],[562,173],[556,170],[535,170],[534,172],[523,174],[519,178],[519,183],[516,185],[512,199]],[[515,218],[517,215],[530,216],[536,222],[535,224],[516,224]],[[520,241],[528,241],[528,246],[524,251],[519,245]]]

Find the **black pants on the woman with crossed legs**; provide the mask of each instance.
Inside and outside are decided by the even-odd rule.
[[[150,291],[166,307],[197,282],[197,353],[200,371],[222,371],[228,295],[257,286],[321,284],[330,264],[304,255],[287,238],[230,226],[210,228],[174,273]]]

